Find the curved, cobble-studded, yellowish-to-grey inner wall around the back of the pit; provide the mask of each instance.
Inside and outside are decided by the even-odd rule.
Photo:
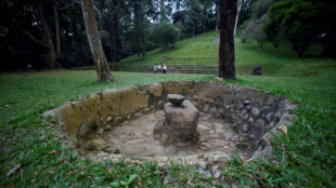
[[[281,123],[290,123],[290,105],[282,96],[264,91],[219,82],[165,82],[128,86],[92,93],[69,102],[52,112],[72,136],[81,134],[83,125],[94,124],[98,132],[111,130],[125,121],[164,108],[168,94],[181,94],[198,111],[223,118],[237,134],[259,147],[260,138]]]

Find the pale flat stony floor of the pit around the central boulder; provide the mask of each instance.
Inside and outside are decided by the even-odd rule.
[[[197,132],[199,142],[189,146],[161,146],[155,138],[153,129],[156,121],[164,117],[163,110],[144,115],[137,120],[125,122],[107,133],[103,139],[106,145],[116,146],[125,157],[173,157],[222,151],[228,155],[237,152],[245,159],[251,156],[251,146],[238,136],[223,119],[201,113]],[[87,155],[94,155],[87,151]]]

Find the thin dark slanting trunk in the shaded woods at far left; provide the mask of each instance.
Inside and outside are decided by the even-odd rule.
[[[48,42],[49,67],[50,68],[54,68],[55,62],[56,62],[55,48],[54,48],[54,44],[52,42],[50,29],[49,29],[49,27],[47,25],[47,22],[46,22],[46,18],[44,18],[43,6],[42,6],[41,2],[39,3],[39,11],[40,11],[40,16],[41,16],[42,25],[43,25],[43,30],[44,30],[46,39],[47,39],[47,42]]]

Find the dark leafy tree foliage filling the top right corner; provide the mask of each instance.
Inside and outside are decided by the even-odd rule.
[[[302,56],[311,42],[324,42],[323,55],[336,54],[336,2],[331,0],[284,0],[270,8],[266,31],[270,40],[283,33]]]

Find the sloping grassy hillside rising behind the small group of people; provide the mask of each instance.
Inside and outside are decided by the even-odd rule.
[[[138,55],[113,63],[112,66],[119,67],[121,71],[138,71],[143,66],[153,66],[157,63],[171,65],[218,65],[219,42],[216,40],[219,32],[212,31],[199,35],[195,38],[182,40],[176,43],[175,48],[166,51],[160,49],[147,52],[145,59],[141,61]],[[312,45],[309,56],[316,56],[321,46]],[[331,75],[331,67],[335,68],[334,61],[303,57],[298,58],[296,52],[289,51],[288,43],[282,43],[274,48],[271,43],[264,44],[262,51],[258,50],[254,41],[242,43],[240,38],[235,39],[235,66],[237,75],[249,75],[257,65],[262,66],[262,73],[266,76],[321,76]],[[316,69],[318,68],[318,69]]]

